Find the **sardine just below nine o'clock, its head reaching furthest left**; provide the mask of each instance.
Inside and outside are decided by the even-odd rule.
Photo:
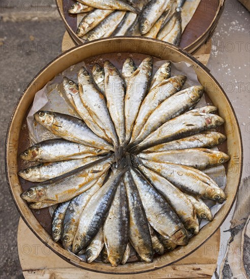
[[[18,175],[25,180],[32,182],[43,182],[55,178],[78,167],[87,165],[104,158],[104,156],[92,156],[83,159],[66,160],[51,163],[42,163],[36,166],[27,167],[18,171]]]

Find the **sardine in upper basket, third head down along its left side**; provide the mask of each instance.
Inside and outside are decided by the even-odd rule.
[[[123,11],[114,11],[112,14],[107,16],[95,29],[89,32],[87,41],[89,42],[111,36],[125,14],[126,12]]]

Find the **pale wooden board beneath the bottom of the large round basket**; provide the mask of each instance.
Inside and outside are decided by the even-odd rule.
[[[216,268],[221,233],[218,230],[204,245],[185,259],[142,274],[100,274],[75,267],[47,248],[20,218],[18,253],[26,279],[91,278],[91,279],[151,279],[151,278],[211,278]]]

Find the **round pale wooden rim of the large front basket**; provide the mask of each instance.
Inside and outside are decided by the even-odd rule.
[[[92,262],[87,264],[80,261],[77,257],[62,249],[59,243],[53,242],[50,233],[45,229],[44,221],[39,221],[40,215],[34,214],[27,206],[25,200],[20,197],[23,191],[17,175],[18,171],[18,155],[19,147],[22,142],[26,141],[27,134],[24,133],[23,123],[27,111],[33,103],[35,94],[42,89],[47,82],[52,80],[56,75],[63,72],[66,68],[80,61],[90,59],[101,55],[110,57],[117,53],[131,53],[134,56],[151,55],[162,60],[171,60],[173,62],[184,61],[194,68],[199,82],[205,87],[206,94],[218,108],[218,114],[222,116],[226,122],[224,124],[224,133],[227,135],[227,153],[231,156],[231,160],[227,166],[227,186],[225,193],[227,200],[221,210],[215,215],[214,220],[201,229],[201,232],[192,237],[185,247],[179,247],[171,253],[165,254],[154,259],[152,263],[134,262],[123,266],[111,267],[109,264]],[[239,187],[242,171],[242,143],[238,122],[234,110],[221,86],[210,75],[208,69],[189,53],[180,48],[173,47],[167,43],[139,38],[107,38],[97,40],[78,47],[75,47],[51,61],[42,71],[32,80],[28,87],[20,97],[17,106],[13,112],[6,142],[6,173],[10,192],[15,204],[20,212],[21,217],[27,226],[36,234],[36,236],[53,252],[71,264],[90,271],[113,273],[113,274],[134,274],[159,269],[170,265],[198,249],[211,235],[221,226],[225,218],[230,212]],[[46,208],[45,208],[46,209]],[[48,218],[48,216],[47,216]],[[50,217],[49,217],[50,218]]]

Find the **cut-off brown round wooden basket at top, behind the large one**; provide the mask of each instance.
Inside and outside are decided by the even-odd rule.
[[[225,0],[201,0],[194,16],[187,24],[181,36],[179,47],[189,53],[194,53],[211,38],[221,17]],[[69,14],[68,9],[74,0],[56,0],[57,9],[64,21],[66,29],[76,45],[82,41],[76,35],[77,15]]]

